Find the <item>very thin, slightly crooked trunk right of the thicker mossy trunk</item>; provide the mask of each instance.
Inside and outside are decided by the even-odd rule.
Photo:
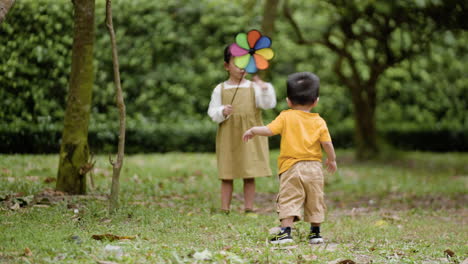
[[[112,164],[112,187],[109,203],[109,211],[112,213],[119,206],[119,189],[120,189],[120,170],[123,165],[124,149],[125,149],[125,103],[122,94],[122,86],[120,85],[120,70],[119,56],[117,52],[117,41],[115,40],[114,25],[112,23],[112,1],[106,0],[106,26],[109,31],[109,36],[112,44],[112,64],[114,69],[114,84],[117,94],[117,107],[119,108],[119,145],[117,151],[117,161]]]

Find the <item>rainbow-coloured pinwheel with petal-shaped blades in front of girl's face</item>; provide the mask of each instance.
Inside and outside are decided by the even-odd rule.
[[[231,44],[229,50],[235,57],[234,64],[237,67],[245,69],[248,73],[256,73],[268,68],[268,61],[274,56],[270,46],[271,39],[254,29],[247,34],[237,34],[236,43]]]

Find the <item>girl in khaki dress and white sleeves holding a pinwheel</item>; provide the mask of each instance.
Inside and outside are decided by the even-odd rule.
[[[268,139],[256,137],[244,144],[242,135],[252,126],[262,126],[260,109],[276,105],[273,86],[254,76],[245,79],[246,72],[234,65],[229,46],[224,49],[224,69],[227,81],[220,83],[211,95],[208,115],[219,124],[216,135],[218,176],[221,179],[221,210],[229,213],[233,180],[244,179],[244,210],[253,212],[255,177],[271,176]]]

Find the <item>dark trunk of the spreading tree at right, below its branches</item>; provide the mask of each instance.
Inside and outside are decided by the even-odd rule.
[[[360,88],[364,87],[364,88]],[[356,157],[367,160],[379,153],[375,122],[375,86],[349,87],[354,107]]]

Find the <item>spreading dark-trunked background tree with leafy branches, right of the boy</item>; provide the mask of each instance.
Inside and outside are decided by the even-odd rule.
[[[293,9],[310,18],[307,25],[297,22]],[[316,10],[327,14],[314,19]],[[438,30],[466,27],[466,4],[457,1],[327,0],[291,8],[285,0],[283,11],[298,44],[322,45],[335,54],[333,71],[353,102],[360,159],[379,152],[375,111],[384,72],[427,52]]]

